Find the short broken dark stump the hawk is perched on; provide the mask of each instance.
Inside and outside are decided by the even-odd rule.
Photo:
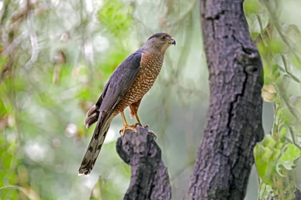
[[[146,128],[136,129],[137,133],[127,130],[116,143],[119,156],[131,166],[130,184],[123,199],[169,200],[171,185],[161,149]]]

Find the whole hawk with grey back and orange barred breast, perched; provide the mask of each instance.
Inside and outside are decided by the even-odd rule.
[[[86,128],[89,128],[96,121],[97,123],[79,167],[79,175],[90,174],[110,123],[119,112],[123,119],[123,128],[120,130],[123,135],[126,130],[136,132],[134,127],[138,124],[141,125],[137,115],[139,104],[158,77],[164,61],[164,54],[171,44],[176,45],[176,40],[170,34],[156,33],[150,36],[136,52],[125,58],[114,70],[98,101],[87,112],[87,118],[84,122]],[[135,116],[138,123],[127,124],[123,110],[128,106],[130,116]],[[155,133],[153,134],[156,136]]]

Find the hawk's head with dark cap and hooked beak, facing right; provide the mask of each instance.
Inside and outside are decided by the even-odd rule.
[[[165,51],[171,44],[176,45],[176,40],[174,39],[174,37],[168,33],[159,32],[150,36],[144,45],[165,53]]]

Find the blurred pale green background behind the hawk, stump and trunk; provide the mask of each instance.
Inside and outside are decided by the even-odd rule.
[[[278,6],[281,24],[301,27],[300,1]],[[251,34],[260,32],[249,9]],[[158,135],[173,199],[183,199],[209,105],[198,0],[2,0],[0,17],[0,186],[18,185],[3,187],[1,199],[122,199],[130,178],[115,150],[122,119],[88,177],[78,168],[95,125],[83,121],[118,64],[163,31],[177,45],[138,112]],[[264,103],[266,133],[272,124],[273,104]],[[253,167],[245,199],[257,199],[257,182]]]

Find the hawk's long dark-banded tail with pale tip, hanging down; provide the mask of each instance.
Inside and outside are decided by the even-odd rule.
[[[96,124],[95,130],[93,132],[93,136],[91,138],[91,141],[89,143],[87,151],[86,151],[86,153],[83,157],[83,160],[81,162],[81,165],[79,167],[78,175],[81,175],[81,174],[89,175],[90,174],[90,172],[91,172],[91,170],[94,167],[94,164],[96,162],[97,156],[100,152],[100,149],[102,147],[105,136],[106,136],[106,134],[108,132],[108,129],[110,127],[112,117],[111,116],[104,117],[104,115],[106,115],[106,114],[104,114],[103,112],[104,111],[101,111],[101,112],[98,111],[98,115],[100,114],[100,117],[99,117],[99,120]],[[93,114],[95,114],[95,113],[97,113],[97,112],[94,112]],[[94,115],[90,115],[90,116],[94,117]],[[90,117],[90,116],[88,116],[88,117]],[[87,117],[87,119],[88,119],[88,117]],[[94,120],[93,117],[91,119]],[[85,123],[86,126],[88,126],[88,124],[90,124],[91,119],[89,120],[89,123]],[[97,119],[96,119],[96,121],[97,121]]]

